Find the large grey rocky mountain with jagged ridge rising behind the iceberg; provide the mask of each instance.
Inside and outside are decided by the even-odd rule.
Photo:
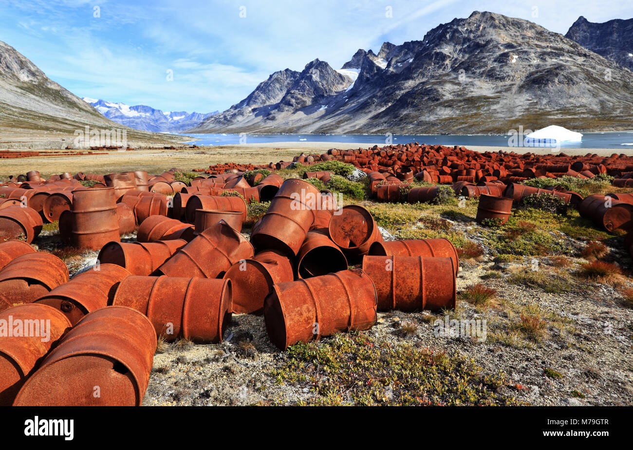
[[[274,95],[263,95],[264,85]],[[385,42],[378,54],[360,49],[338,71],[315,59],[300,73],[273,73],[191,132],[629,129],[632,107],[628,70],[536,23],[475,11],[421,41]]]

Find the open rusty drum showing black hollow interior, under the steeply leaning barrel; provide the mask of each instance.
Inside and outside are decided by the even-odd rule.
[[[327,235],[310,231],[297,255],[299,278],[320,277],[348,268],[341,249]]]

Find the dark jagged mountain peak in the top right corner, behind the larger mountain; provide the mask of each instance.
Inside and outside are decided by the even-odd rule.
[[[565,37],[633,71],[633,19],[594,23],[580,16]]]

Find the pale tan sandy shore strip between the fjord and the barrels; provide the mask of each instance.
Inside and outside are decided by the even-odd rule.
[[[272,142],[266,144],[237,144],[226,146],[204,146],[197,149],[182,148],[167,150],[162,148],[147,148],[134,151],[110,151],[104,155],[92,156],[36,156],[33,158],[2,159],[0,162],[0,178],[8,175],[27,173],[29,170],[39,170],[45,177],[62,172],[113,173],[128,170],[146,170],[149,173],[160,173],[172,167],[183,170],[206,168],[216,163],[252,163],[265,165],[270,162],[288,161],[298,154],[320,154],[330,148],[350,149],[369,148],[373,145],[384,146],[384,142],[374,144],[358,144],[353,146],[349,142]],[[0,150],[28,151],[27,148],[0,145]],[[514,151],[515,153],[556,154],[556,149],[539,147],[487,147],[468,146],[479,152],[486,151]],[[598,154],[610,156],[624,151],[619,149],[562,149],[563,153]],[[45,152],[45,150],[44,150]],[[630,150],[627,152],[629,153]]]

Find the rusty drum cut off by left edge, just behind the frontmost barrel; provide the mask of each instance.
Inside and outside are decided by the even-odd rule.
[[[72,325],[60,311],[45,304],[5,309],[0,320],[6,323],[6,333],[0,334],[0,406],[11,406],[38,361]],[[20,332],[16,335],[18,323]]]

